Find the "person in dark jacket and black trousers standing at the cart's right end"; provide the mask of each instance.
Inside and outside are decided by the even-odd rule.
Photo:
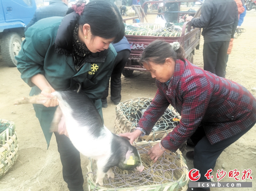
[[[204,70],[225,78],[229,42],[234,38],[238,10],[234,0],[206,0],[200,18],[189,16],[193,27],[203,28]]]

